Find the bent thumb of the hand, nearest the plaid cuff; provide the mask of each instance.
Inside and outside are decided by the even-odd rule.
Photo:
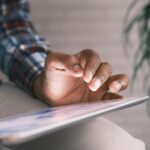
[[[45,62],[46,70],[59,70],[67,72],[68,74],[81,77],[83,75],[83,69],[80,66],[79,59],[74,55],[68,55],[64,53],[49,54]]]

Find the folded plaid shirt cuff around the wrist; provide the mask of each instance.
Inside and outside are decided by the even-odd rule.
[[[13,65],[11,81],[17,86],[34,96],[33,85],[36,78],[44,72],[46,52],[37,51],[25,55]]]

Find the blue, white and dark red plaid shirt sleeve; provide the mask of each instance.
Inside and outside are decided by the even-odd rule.
[[[33,94],[36,77],[44,71],[50,46],[30,19],[27,0],[0,0],[0,69],[17,86]]]

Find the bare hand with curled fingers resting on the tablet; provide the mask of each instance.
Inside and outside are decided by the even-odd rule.
[[[54,106],[121,98],[115,93],[127,88],[128,77],[111,74],[111,65],[93,50],[53,53],[47,56],[45,72],[35,81],[34,91],[37,98]]]

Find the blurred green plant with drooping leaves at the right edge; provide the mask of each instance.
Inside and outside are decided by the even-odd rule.
[[[150,1],[143,1],[142,6],[136,9],[140,2],[139,0],[134,0],[127,10],[124,21],[125,45],[129,45],[132,30],[136,27],[138,30],[138,48],[134,57],[132,81],[135,81],[140,69],[146,65],[147,69],[149,69],[149,73],[143,74],[146,80],[144,85],[147,87],[148,93],[150,93],[150,82],[147,86],[148,81],[150,81]],[[133,10],[136,10],[136,14],[134,15],[132,15]]]

